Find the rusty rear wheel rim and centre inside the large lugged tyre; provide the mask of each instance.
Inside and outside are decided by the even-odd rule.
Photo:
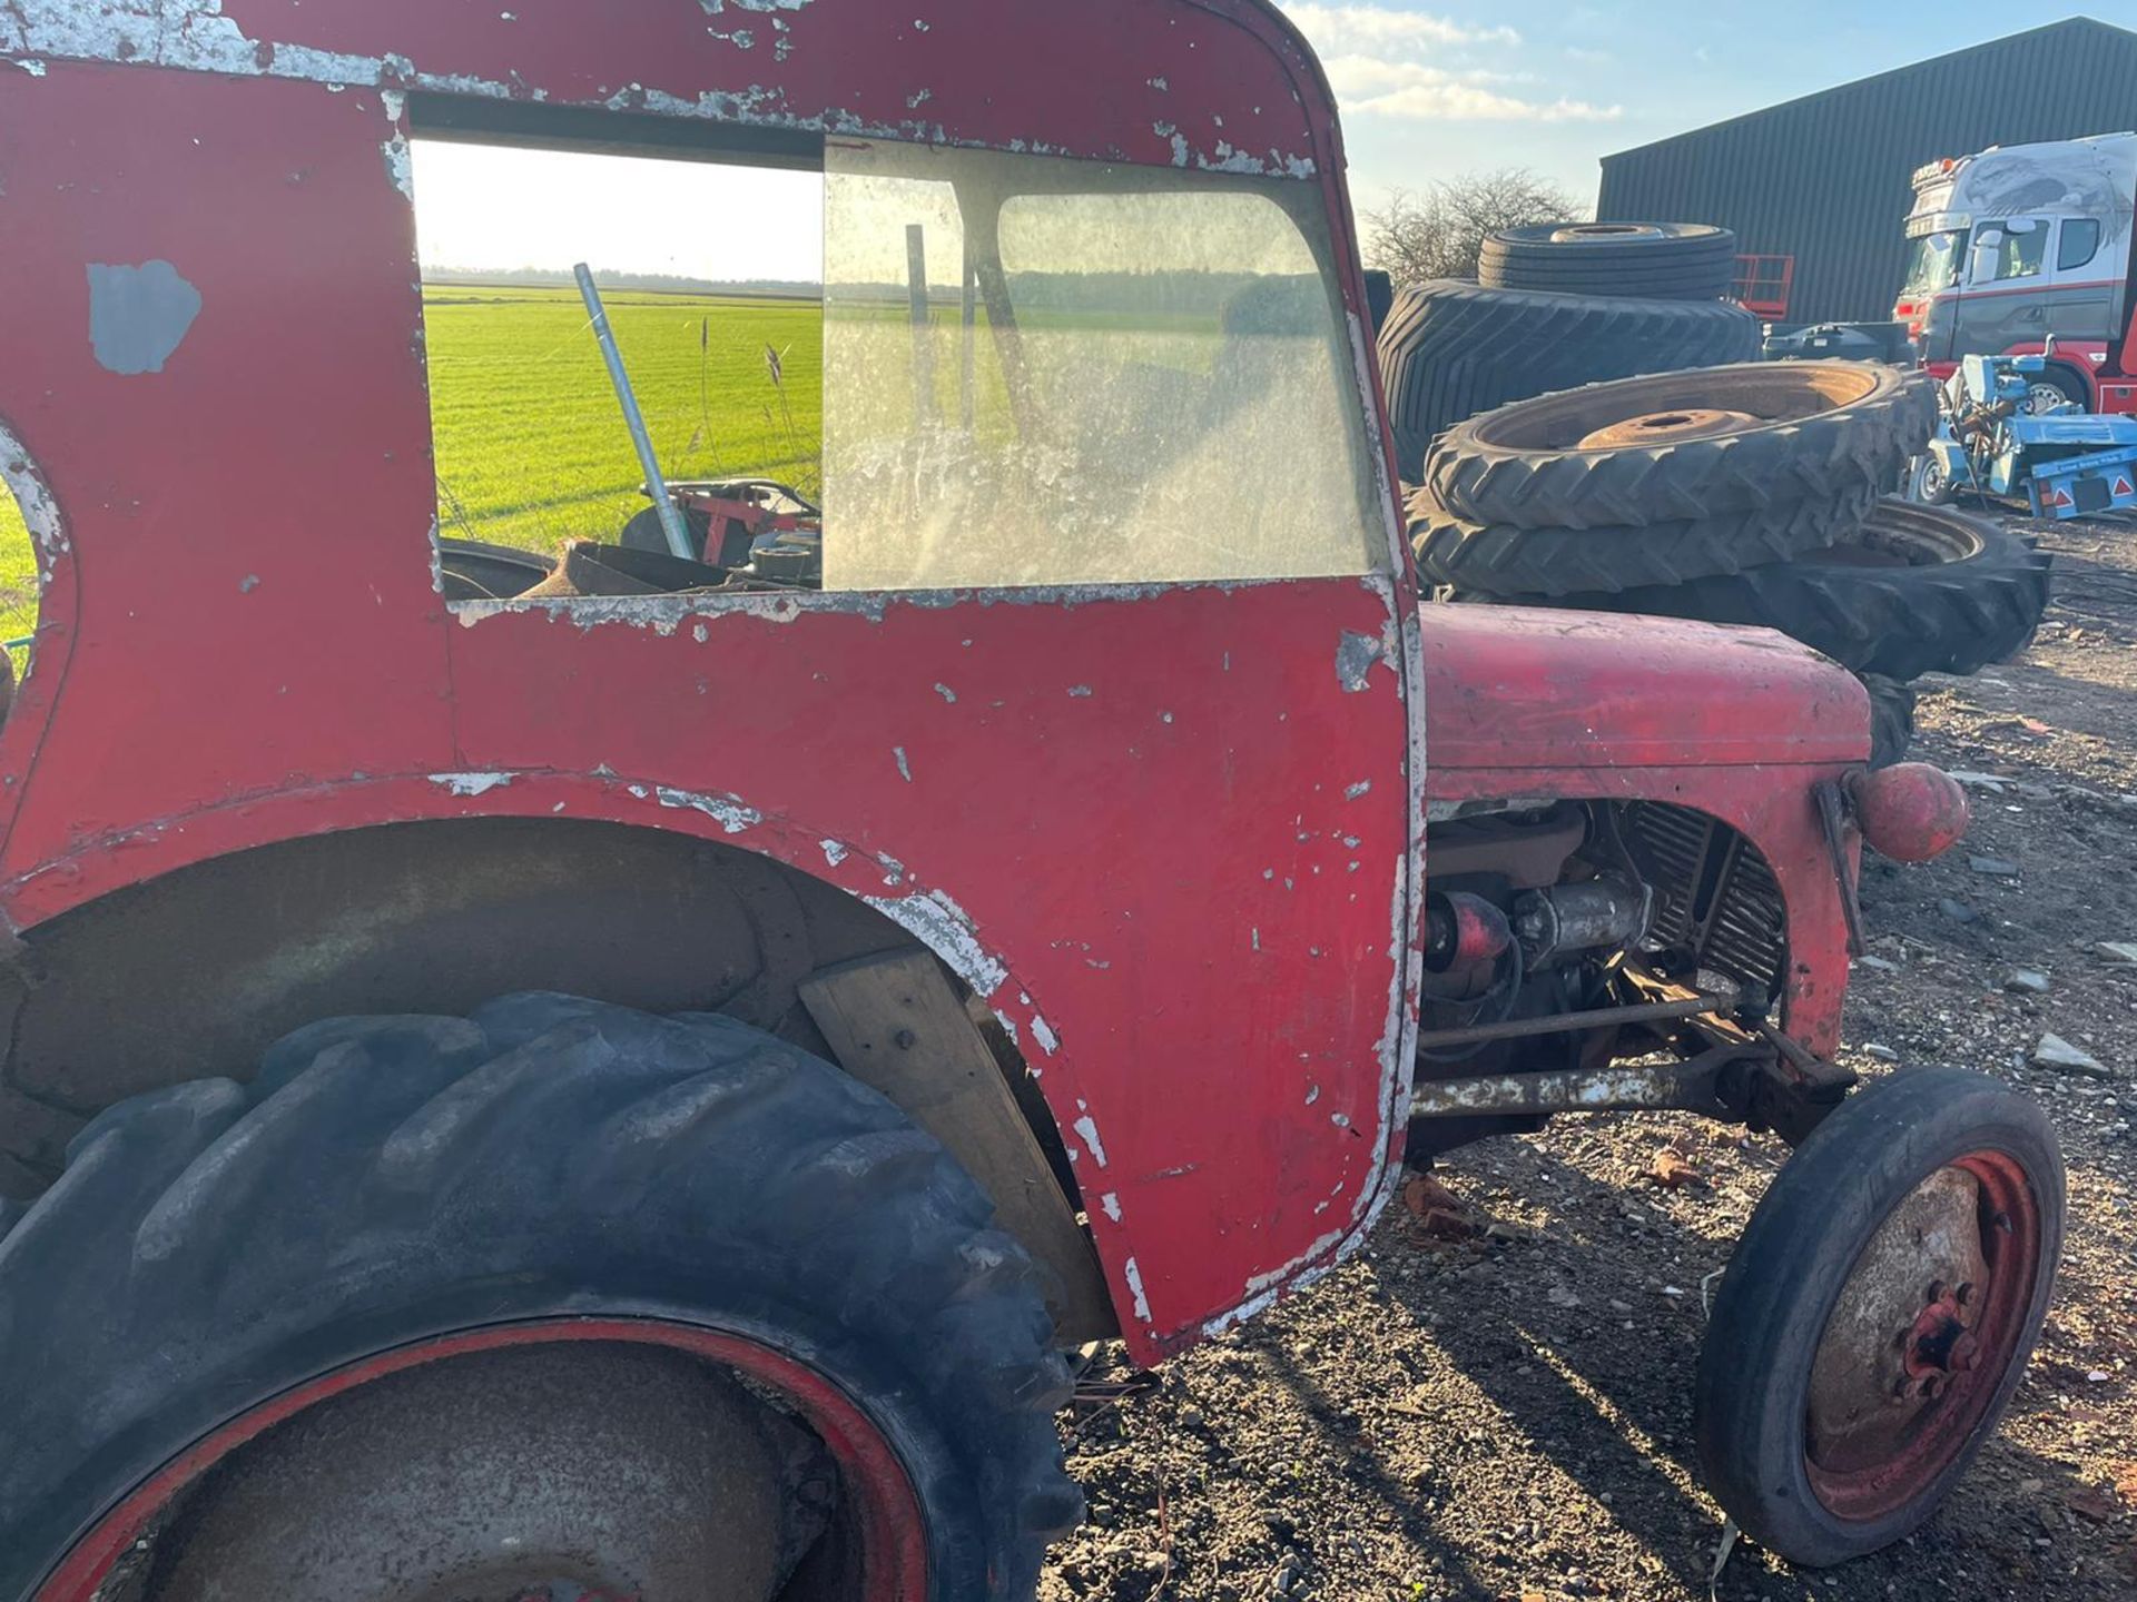
[[[701,1596],[707,1574],[737,1602],[925,1596],[893,1448],[754,1341],[558,1320],[387,1352],[256,1408],[115,1508],[36,1602],[639,1602]]]

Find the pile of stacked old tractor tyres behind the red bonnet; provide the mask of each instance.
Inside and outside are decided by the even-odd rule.
[[[1690,267],[1639,278],[1641,263],[1660,261],[1641,252],[1705,233],[1718,231],[1522,229],[1487,244],[1483,273],[1693,284]],[[1554,252],[1564,252],[1556,267]],[[1613,267],[1620,256],[1626,265]],[[1457,387],[1436,387],[1432,372],[1464,367],[1462,395],[1526,389],[1530,372],[1485,380],[1477,372],[1489,350],[1421,355],[1404,312],[1423,303],[1436,325],[1457,290],[1504,293],[1408,290],[1381,346],[1398,446],[1417,442],[1415,466],[1402,461],[1410,543],[1436,598],[1778,628],[1863,679],[1881,763],[1913,737],[1915,679],[1975,673],[2032,639],[2047,607],[2045,555],[1992,519],[1887,496],[1936,425],[1925,376],[1855,361],[1722,361],[1579,378],[1455,417]],[[1697,310],[1746,316],[1705,301]],[[1605,333],[1596,363],[1616,363],[1607,314],[1592,327]],[[1554,361],[1575,365],[1566,350]]]

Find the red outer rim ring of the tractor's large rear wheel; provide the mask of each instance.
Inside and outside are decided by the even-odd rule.
[[[171,1459],[98,1519],[60,1559],[34,1602],[94,1602],[128,1559],[139,1559],[137,1542],[152,1536],[165,1519],[190,1512],[188,1493],[199,1491],[214,1470],[235,1461],[278,1425],[303,1418],[308,1410],[451,1358],[586,1344],[686,1354],[739,1378],[756,1397],[776,1397],[778,1412],[816,1435],[838,1474],[833,1527],[823,1551],[801,1568],[801,1574],[823,1581],[808,1585],[806,1602],[923,1602],[930,1561],[919,1495],[898,1450],[874,1420],[833,1380],[786,1352],[729,1331],[652,1318],[571,1318],[459,1331],[368,1356],[271,1397]],[[532,1568],[541,1564],[534,1561]],[[607,1591],[566,1568],[556,1579],[562,1583],[560,1591],[545,1583],[547,1576],[536,1576],[500,1593],[496,1602],[635,1602],[630,1591]],[[489,1602],[487,1593],[477,1596]],[[793,1585],[778,1591],[780,1602],[791,1596]]]

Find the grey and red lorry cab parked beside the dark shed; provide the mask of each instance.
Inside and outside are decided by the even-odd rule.
[[[2137,132],[1930,162],[1893,316],[1938,380],[1964,357],[2045,355],[2039,404],[2137,412],[2133,214]]]

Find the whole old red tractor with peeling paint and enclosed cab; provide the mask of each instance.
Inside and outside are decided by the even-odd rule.
[[[812,570],[436,540],[419,135],[823,173]],[[1028,1598],[1064,1346],[1594,1109],[1799,1143],[1686,1376],[1752,1536],[1994,1429],[2054,1138],[1831,1064],[1955,790],[1776,634],[1421,613],[1274,6],[15,0],[0,152],[4,1602]]]

